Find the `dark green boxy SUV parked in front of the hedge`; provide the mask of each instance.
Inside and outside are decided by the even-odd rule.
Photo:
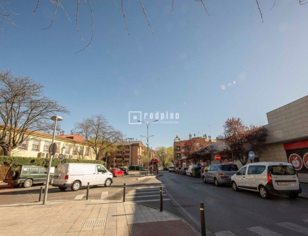
[[[32,184],[46,183],[47,170],[43,166],[33,165],[12,165],[10,166],[5,180],[5,183],[10,185],[19,185],[29,188]],[[49,175],[49,184],[53,183],[53,173]]]

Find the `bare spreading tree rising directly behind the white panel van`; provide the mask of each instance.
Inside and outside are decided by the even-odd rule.
[[[93,148],[96,160],[100,159],[107,147],[123,140],[122,132],[111,126],[103,115],[92,115],[81,123],[76,123],[75,130]]]

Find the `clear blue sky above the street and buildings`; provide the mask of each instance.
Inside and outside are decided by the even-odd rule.
[[[41,1],[11,1],[17,27],[1,24],[0,69],[27,75],[45,86],[45,94],[67,107],[61,127],[103,114],[127,137],[146,141],[146,126],[129,125],[129,111],[179,113],[179,124],[151,124],[150,146],[172,146],[176,135],[223,132],[228,117],[245,124],[267,124],[266,112],[307,95],[308,5],[296,1],[124,1],[122,12],[113,1],[80,6],[75,28],[75,1],[63,1],[70,21]],[[121,1],[115,0],[118,7]],[[164,4],[164,7],[163,7]],[[147,119],[145,121],[151,121]],[[167,121],[167,120],[164,120]],[[172,121],[172,120],[168,120]]]

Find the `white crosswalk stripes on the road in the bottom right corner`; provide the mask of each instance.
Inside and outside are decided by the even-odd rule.
[[[303,224],[306,224],[306,223],[308,223],[308,219],[303,220]],[[281,222],[281,223],[275,224],[275,227],[273,228],[277,229],[276,226],[282,227],[281,228],[282,230],[280,231],[285,231],[285,229],[288,229],[291,231],[287,231],[284,234],[281,234],[281,233],[274,231],[274,229],[268,229],[262,226],[249,227],[247,228],[247,230],[254,232],[255,234],[261,235],[261,236],[308,235],[308,225],[306,225],[307,227],[304,227],[302,225],[294,224],[292,222]],[[220,232],[215,232],[214,234],[216,236],[237,236],[237,234],[235,234],[232,231],[220,231]]]

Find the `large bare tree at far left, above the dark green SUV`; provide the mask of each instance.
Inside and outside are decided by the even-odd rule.
[[[28,76],[0,73],[0,147],[4,155],[24,142],[35,131],[52,130],[52,115],[68,110],[43,94],[44,86]]]

